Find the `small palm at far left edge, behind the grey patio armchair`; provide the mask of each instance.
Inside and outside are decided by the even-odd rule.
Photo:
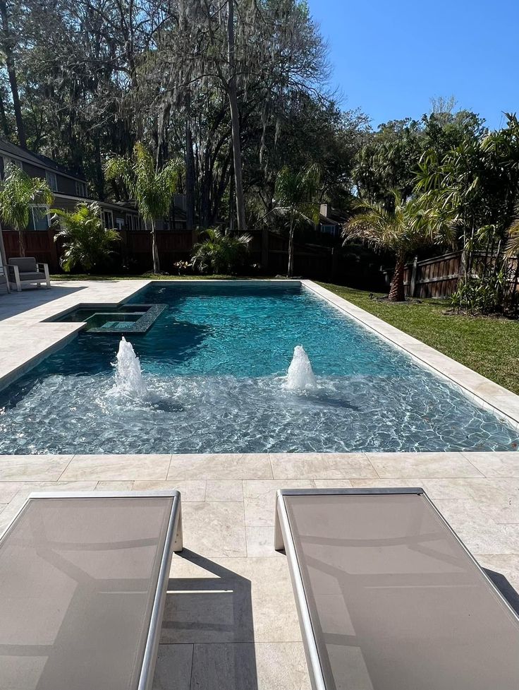
[[[18,230],[20,256],[25,256],[25,230],[29,225],[31,206],[48,206],[54,196],[47,180],[29,177],[21,168],[9,163],[6,177],[0,184],[0,215],[2,222]]]

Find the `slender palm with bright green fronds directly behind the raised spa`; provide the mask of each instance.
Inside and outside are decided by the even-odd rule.
[[[159,273],[155,221],[169,213],[173,194],[178,189],[181,162],[169,160],[159,169],[152,154],[138,141],[130,159],[123,156],[111,157],[106,161],[104,172],[107,179],[119,179],[125,184],[128,193],[137,202],[146,227],[148,223],[151,225],[153,272]]]

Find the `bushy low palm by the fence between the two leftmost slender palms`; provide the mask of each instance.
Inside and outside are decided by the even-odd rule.
[[[117,230],[104,227],[99,204],[78,203],[73,211],[53,208],[53,220],[59,220],[60,230],[54,242],[63,242],[61,268],[69,273],[76,266],[92,270],[112,253],[112,246],[121,237]]]

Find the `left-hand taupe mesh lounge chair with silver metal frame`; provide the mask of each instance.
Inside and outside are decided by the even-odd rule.
[[[31,494],[0,539],[0,688],[149,690],[181,496]]]

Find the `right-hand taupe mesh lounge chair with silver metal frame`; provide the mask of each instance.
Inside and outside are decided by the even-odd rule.
[[[422,489],[278,492],[314,690],[517,690],[519,618]]]

